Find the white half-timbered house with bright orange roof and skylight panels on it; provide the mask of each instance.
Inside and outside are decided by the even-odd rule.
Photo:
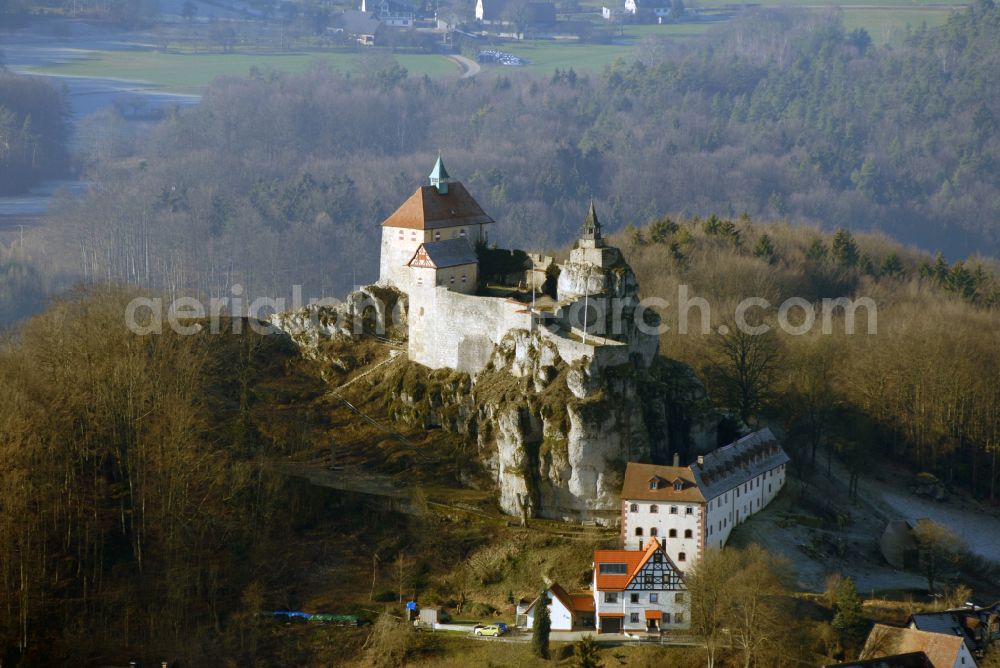
[[[598,633],[658,633],[690,624],[684,577],[656,538],[642,550],[596,550],[592,589]]]

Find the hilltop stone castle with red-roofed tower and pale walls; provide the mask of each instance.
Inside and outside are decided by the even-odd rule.
[[[642,311],[639,286],[621,252],[605,242],[593,203],[569,261],[490,248],[493,220],[441,157],[420,186],[382,223],[379,284],[409,298],[409,356],[432,369],[475,376],[514,331],[537,333],[549,356],[590,369],[659,348],[657,316]],[[502,267],[484,271],[489,259]],[[491,265],[491,266],[492,266]]]

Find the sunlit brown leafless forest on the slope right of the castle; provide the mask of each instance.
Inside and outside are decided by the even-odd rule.
[[[676,305],[687,286],[711,306],[712,332],[731,329],[680,334],[679,309],[666,309],[661,352],[690,364],[723,412],[780,423],[807,475],[826,471],[834,455],[854,473],[892,461],[1000,500],[996,261],[949,264],[881,235],[715,216],[662,218],[622,232],[619,243],[644,294]],[[762,336],[733,326],[747,297],[773,305],[760,314],[772,326]],[[829,333],[817,324],[789,334],[775,318],[792,297],[816,305],[817,321],[827,298],[868,297],[877,310],[859,310],[853,334],[844,311]],[[789,315],[796,325],[804,318]]]

